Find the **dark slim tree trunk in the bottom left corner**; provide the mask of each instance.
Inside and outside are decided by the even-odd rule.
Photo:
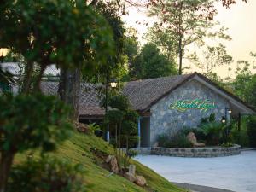
[[[14,160],[14,153],[3,153],[0,162],[0,192],[5,192],[9,171]]]

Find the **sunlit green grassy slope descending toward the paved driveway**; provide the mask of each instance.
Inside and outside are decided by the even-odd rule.
[[[92,135],[74,133],[73,137],[68,139],[65,143],[62,143],[53,154],[61,159],[64,158],[71,160],[74,163],[82,164],[88,171],[85,177],[86,180],[88,183],[93,184],[90,191],[146,191],[145,189],[138,187],[136,184],[129,182],[124,177],[119,177],[118,175],[106,177],[109,172],[95,164],[94,154],[90,152],[91,147],[98,148],[108,154],[113,153],[113,148],[111,148],[108,143],[105,143],[102,139]],[[23,159],[21,156],[17,155],[15,161],[19,161],[20,158]],[[134,162],[137,168],[137,175],[143,175],[148,182],[148,186],[151,189],[154,189],[154,191],[185,191],[177,188],[172,183],[169,183],[165,178],[160,177],[160,175],[153,172],[148,167],[143,166],[137,161]]]

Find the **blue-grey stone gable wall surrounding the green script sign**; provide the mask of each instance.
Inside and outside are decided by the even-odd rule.
[[[169,108],[170,104],[177,100],[195,99],[215,102],[215,108],[207,111],[191,108],[183,112]],[[158,135],[164,132],[169,131],[172,135],[184,127],[196,127],[200,124],[201,118],[208,117],[211,113],[215,113],[216,119],[220,121],[225,115],[225,108],[229,107],[230,104],[224,97],[195,79],[182,84],[150,108],[150,144],[153,146]]]

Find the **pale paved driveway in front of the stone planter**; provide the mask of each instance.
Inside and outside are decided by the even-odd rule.
[[[135,159],[172,182],[256,192],[256,151],[215,158],[138,155]]]

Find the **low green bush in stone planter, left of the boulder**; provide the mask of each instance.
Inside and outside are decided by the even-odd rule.
[[[177,132],[174,136],[163,133],[157,138],[158,145],[163,148],[192,148],[193,144],[189,142],[182,131]]]

